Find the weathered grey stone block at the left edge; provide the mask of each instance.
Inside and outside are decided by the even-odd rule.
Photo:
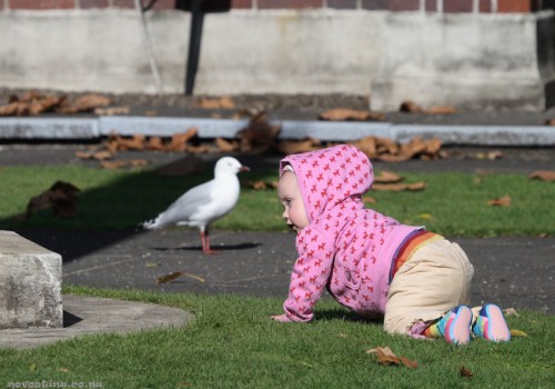
[[[63,327],[62,258],[0,231],[0,329]]]

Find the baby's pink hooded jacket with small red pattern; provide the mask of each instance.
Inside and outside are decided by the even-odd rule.
[[[354,146],[292,154],[310,225],[296,236],[293,267],[282,321],[310,321],[324,288],[337,302],[363,317],[383,315],[392,258],[411,232],[422,227],[365,209],[362,194],[374,180],[369,158]]]

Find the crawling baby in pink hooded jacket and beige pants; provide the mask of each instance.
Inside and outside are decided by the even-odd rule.
[[[365,209],[373,182],[369,158],[354,146],[291,154],[280,162],[283,219],[296,235],[296,259],[284,313],[306,322],[324,288],[342,306],[384,330],[450,343],[475,337],[508,341],[495,305],[468,307],[474,268],[457,243]]]

